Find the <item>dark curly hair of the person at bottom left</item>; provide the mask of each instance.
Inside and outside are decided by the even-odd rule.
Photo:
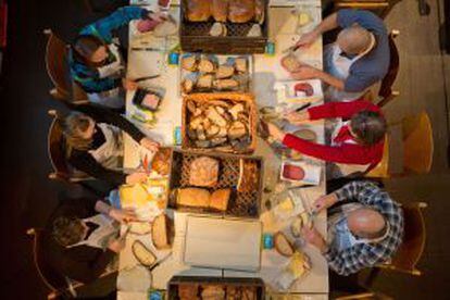
[[[53,221],[52,236],[64,247],[83,240],[84,234],[83,221],[77,217],[60,216]]]

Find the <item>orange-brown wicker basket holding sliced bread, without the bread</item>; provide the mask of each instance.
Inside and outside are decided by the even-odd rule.
[[[200,148],[196,143],[197,139],[189,137],[189,126],[193,114],[188,109],[188,104],[191,101],[196,105],[215,105],[213,101],[224,100],[228,103],[238,104],[241,103],[246,107],[245,112],[248,115],[248,121],[246,124],[246,140],[242,142],[236,142],[237,140],[232,141],[229,138],[224,143],[211,147]],[[227,153],[252,153],[257,148],[257,122],[258,122],[258,112],[254,103],[254,97],[250,93],[238,93],[238,92],[217,92],[217,93],[192,93],[183,98],[183,108],[182,108],[182,148],[196,150],[196,151],[205,151],[205,152],[227,152]],[[228,122],[227,122],[228,123]],[[229,126],[227,124],[226,126]],[[242,140],[242,139],[239,139]]]

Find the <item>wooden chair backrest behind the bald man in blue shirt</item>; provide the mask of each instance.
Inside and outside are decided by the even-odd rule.
[[[399,35],[398,30],[392,30],[389,35],[389,51],[390,61],[388,73],[382,80],[382,86],[378,91],[378,96],[383,99],[378,105],[384,107],[387,104],[388,99],[392,96],[392,85],[396,82],[397,75],[400,68],[399,50],[397,49],[396,41],[393,40]]]

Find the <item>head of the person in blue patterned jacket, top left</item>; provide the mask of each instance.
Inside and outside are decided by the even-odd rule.
[[[101,65],[109,55],[107,45],[91,35],[78,36],[74,42],[74,50],[78,58],[92,65]]]

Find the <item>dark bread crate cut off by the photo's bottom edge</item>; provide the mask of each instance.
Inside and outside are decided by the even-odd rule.
[[[174,276],[167,284],[167,299],[168,300],[178,300],[179,297],[179,286],[187,288],[193,288],[197,290],[195,297],[201,296],[204,287],[208,286],[218,286],[223,287],[225,292],[227,288],[238,288],[245,289],[250,288],[254,290],[257,300],[265,299],[265,286],[264,282],[261,278],[235,278],[235,277],[207,277],[207,276]],[[228,295],[229,296],[229,295]],[[226,298],[226,293],[224,299]],[[200,298],[199,298],[200,299]],[[235,299],[243,299],[242,297],[237,297]]]

